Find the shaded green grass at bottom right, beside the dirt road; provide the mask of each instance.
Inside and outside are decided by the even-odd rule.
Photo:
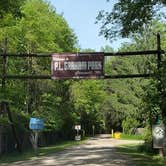
[[[124,145],[117,148],[120,154],[130,156],[137,166],[166,166],[166,157],[138,151],[140,145]]]

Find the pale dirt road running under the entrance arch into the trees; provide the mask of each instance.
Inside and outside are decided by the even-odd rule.
[[[40,157],[35,160],[2,164],[2,166],[134,166],[126,155],[116,152],[116,146],[138,144],[141,141],[115,140],[102,135],[88,140],[85,144],[64,151]]]

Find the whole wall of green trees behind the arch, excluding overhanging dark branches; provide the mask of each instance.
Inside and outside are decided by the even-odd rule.
[[[132,4],[131,4],[132,5]],[[77,39],[65,19],[43,0],[28,0],[21,5],[22,17],[5,13],[0,23],[0,43],[8,38],[9,53],[74,52]],[[165,24],[154,20],[152,26],[132,36],[119,51],[156,49],[156,36],[161,31],[162,48],[166,48]],[[85,52],[94,52],[85,49]],[[103,52],[113,52],[105,46]],[[48,58],[8,58],[7,74],[50,74]],[[162,96],[155,79],[123,80],[7,80],[6,89],[0,89],[0,101],[10,101],[14,124],[19,133],[29,132],[30,117],[45,119],[45,133],[59,133],[62,138],[72,138],[74,125],[81,124],[86,134],[122,130],[131,134],[136,127],[145,127],[164,115],[166,107],[166,58],[161,68]],[[2,58],[0,58],[2,67]],[[156,73],[156,57],[105,58],[105,74]],[[0,75],[2,70],[0,70]],[[6,92],[6,95],[3,92]],[[163,116],[164,117],[164,116]],[[2,115],[0,124],[9,126]],[[71,134],[72,133],[72,134]],[[145,139],[151,141],[150,127]]]

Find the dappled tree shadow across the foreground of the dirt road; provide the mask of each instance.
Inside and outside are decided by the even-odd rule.
[[[125,155],[116,152],[114,148],[106,147],[77,147],[67,149],[62,152],[43,157],[34,161],[20,161],[12,164],[2,164],[2,166],[74,166],[74,165],[101,165],[101,166],[117,166],[132,165]]]

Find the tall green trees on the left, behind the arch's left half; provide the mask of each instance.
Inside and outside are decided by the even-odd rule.
[[[0,23],[1,47],[7,37],[8,53],[75,51],[77,41],[73,30],[50,4],[43,0],[28,0],[21,5],[20,13],[21,17],[16,18],[7,12]],[[49,58],[10,57],[7,66],[7,74],[15,75],[50,74],[51,68]],[[45,132],[63,129],[69,133],[74,119],[69,87],[70,81],[8,80],[4,90],[6,95],[0,89],[0,98],[11,101],[10,109],[18,133],[29,130],[30,117],[44,118]],[[9,124],[6,119],[2,116],[0,121]]]

